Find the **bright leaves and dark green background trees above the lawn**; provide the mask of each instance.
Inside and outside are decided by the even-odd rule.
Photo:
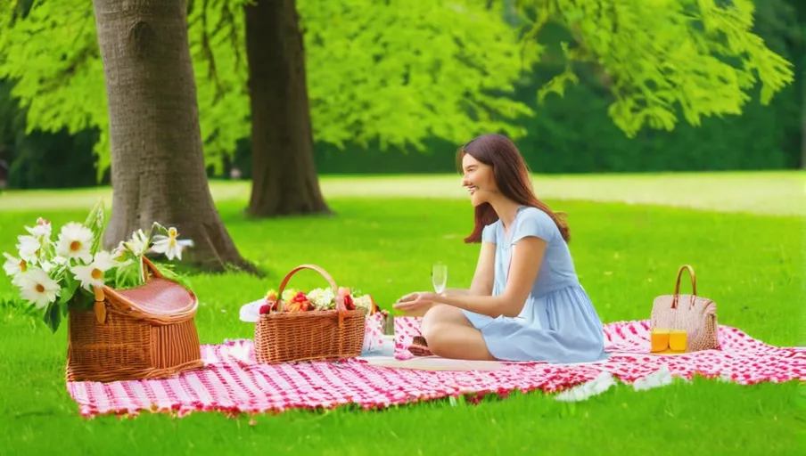
[[[189,4],[201,134],[216,175],[250,134],[246,1]],[[783,130],[769,117],[794,131],[800,104],[786,104],[790,115],[784,116],[753,100],[768,103],[793,80],[779,55],[781,41],[802,27],[781,1],[758,13],[749,0],[501,0],[491,11],[488,3],[299,0],[317,167],[449,171],[456,143],[486,131],[521,138],[524,153],[548,172],[790,165],[777,140]],[[84,140],[97,138],[101,176],[109,143],[91,4],[37,1],[27,16],[25,10],[0,5],[0,78],[14,80],[29,132],[99,132]],[[752,29],[754,16],[759,30]],[[563,37],[547,33],[551,28],[565,30]],[[726,117],[748,111],[752,118]],[[717,119],[704,120],[709,117]],[[681,129],[679,118],[705,130]],[[746,134],[736,132],[753,130],[757,138],[761,124],[751,128],[753,122],[770,133],[763,144],[753,142],[751,154]],[[677,131],[662,137],[646,126]],[[625,141],[621,132],[639,142]],[[594,151],[590,143],[606,147]],[[349,153],[337,153],[344,149]],[[377,150],[391,153],[374,158]],[[407,153],[414,150],[426,154]],[[700,164],[677,157],[680,150]],[[778,155],[764,162],[763,150]],[[24,186],[13,181],[20,175],[27,185],[43,181],[31,171],[49,160],[42,148],[23,151],[12,184]],[[243,158],[234,157],[242,169]]]

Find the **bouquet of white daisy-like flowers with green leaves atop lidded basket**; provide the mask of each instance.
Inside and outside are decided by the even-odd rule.
[[[62,226],[56,240],[53,227],[43,218],[28,234],[17,237],[18,255],[4,253],[5,273],[20,290],[20,297],[42,312],[42,318],[55,332],[62,316],[70,308],[90,310],[95,303],[95,288],[110,285],[114,289],[131,289],[146,280],[143,256],[164,254],[173,260],[182,258],[182,248],[192,245],[178,240],[177,229],[152,224],[148,232],[132,233],[130,240],[121,241],[112,252],[101,246],[105,228],[103,201],[98,201],[84,224],[70,222]],[[160,273],[166,278],[182,281],[167,265]]]

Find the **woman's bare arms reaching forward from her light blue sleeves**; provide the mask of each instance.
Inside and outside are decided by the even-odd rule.
[[[524,237],[514,244],[506,287],[504,288],[504,292],[498,296],[490,296],[492,294],[492,280],[489,280],[489,282],[485,281],[486,275],[484,275],[483,271],[480,274],[480,270],[477,268],[476,275],[473,276],[473,285],[477,286],[478,289],[484,287],[485,290],[489,287],[489,294],[481,295],[469,293],[465,295],[448,294],[447,296],[434,294],[432,301],[435,303],[454,305],[461,309],[476,314],[489,315],[493,318],[499,315],[506,317],[518,316],[518,314],[521,314],[523,305],[526,304],[526,298],[529,297],[532,286],[538,278],[540,265],[543,263],[543,255],[546,253],[546,246],[546,240],[535,236]],[[495,256],[494,247],[493,256]],[[491,262],[490,267],[494,268],[495,264]],[[492,275],[493,274],[490,274],[490,276]],[[473,290],[473,288],[471,290]]]

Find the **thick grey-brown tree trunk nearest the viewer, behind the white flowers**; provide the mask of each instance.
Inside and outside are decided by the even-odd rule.
[[[204,172],[186,0],[93,0],[93,6],[111,142],[104,245],[159,222],[193,240],[185,253],[190,263],[254,272],[226,232]]]

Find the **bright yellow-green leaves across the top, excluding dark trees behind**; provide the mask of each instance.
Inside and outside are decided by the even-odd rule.
[[[189,39],[208,163],[249,136],[243,4],[195,0]],[[97,128],[99,175],[109,165],[103,68],[92,6],[37,0],[27,14],[0,5],[0,78],[15,81],[28,127]],[[507,96],[550,53],[548,24],[570,31],[566,61],[538,93],[562,94],[580,65],[612,93],[610,116],[626,134],[671,129],[678,115],[741,113],[793,80],[791,65],[752,33],[751,0],[299,0],[318,142],[423,147],[428,137],[518,136],[531,110]]]

